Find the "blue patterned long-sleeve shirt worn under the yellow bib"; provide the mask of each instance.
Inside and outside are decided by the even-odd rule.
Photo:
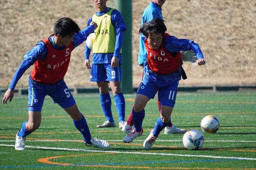
[[[96,12],[97,16],[104,15],[107,13],[111,8],[106,8],[104,11]],[[88,20],[88,25],[92,22],[92,17]],[[116,32],[116,43],[115,43],[115,51],[114,53],[93,53],[92,54],[92,64],[99,64],[99,63],[111,63],[111,59],[113,56],[119,57],[119,63],[122,64],[122,56],[120,54],[122,41],[123,41],[123,32],[126,30],[126,26],[124,24],[124,20],[122,15],[119,11],[113,10],[111,14],[111,22],[115,28]],[[91,53],[91,49],[84,46],[84,59],[89,59]]]

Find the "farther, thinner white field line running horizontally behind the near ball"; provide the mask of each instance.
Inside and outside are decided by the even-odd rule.
[[[26,142],[82,142],[83,140],[26,140]],[[123,140],[107,140],[108,142],[123,142]],[[144,142],[144,140],[134,140],[135,142]],[[158,142],[182,142],[182,140],[156,140]],[[15,140],[0,140],[0,142],[15,142]],[[256,141],[244,141],[244,140],[205,140],[204,142],[255,142]]]

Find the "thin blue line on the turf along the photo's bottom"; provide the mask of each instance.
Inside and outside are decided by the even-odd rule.
[[[190,162],[220,162],[241,159],[214,159],[214,160],[176,160],[176,161],[147,161],[147,162],[116,162],[103,164],[76,164],[76,165],[30,165],[30,166],[0,166],[0,168],[28,168],[28,167],[54,167],[54,166],[84,166],[84,165],[123,165],[123,164],[154,164],[154,163],[190,163]]]

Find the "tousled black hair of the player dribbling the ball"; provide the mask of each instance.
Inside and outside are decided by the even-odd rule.
[[[142,24],[140,27],[139,33],[142,33],[146,38],[148,38],[149,34],[152,33],[161,33],[164,36],[165,31],[167,30],[164,25],[164,20],[160,18],[153,19],[147,23]]]

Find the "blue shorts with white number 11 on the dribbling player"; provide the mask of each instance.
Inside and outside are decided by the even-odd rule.
[[[160,80],[144,77],[138,88],[137,94],[142,94],[148,99],[154,99],[158,91],[158,100],[161,105],[174,107],[179,82],[167,83]]]

